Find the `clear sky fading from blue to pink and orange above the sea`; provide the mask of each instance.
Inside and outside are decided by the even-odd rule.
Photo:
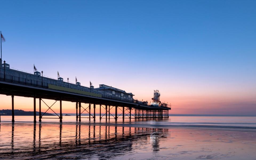
[[[0,4],[10,67],[33,72],[35,64],[49,77],[59,71],[148,102],[158,89],[170,114],[256,115],[256,1]],[[0,100],[0,109],[11,109],[10,96]],[[33,110],[32,98],[14,101]],[[75,113],[74,103],[62,104],[63,113]]]

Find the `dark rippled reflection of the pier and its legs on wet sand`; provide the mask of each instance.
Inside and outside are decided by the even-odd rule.
[[[26,142],[26,146],[22,146],[22,148],[20,145],[15,146],[15,128],[16,124],[11,124],[10,149],[0,147],[0,158],[33,156],[37,159],[39,157],[52,158],[58,155],[67,155],[67,158],[69,156],[74,158],[74,156],[84,156],[91,153],[96,154],[99,159],[113,158],[115,155],[131,151],[133,144],[141,140],[149,140],[153,151],[158,151],[159,138],[163,137],[166,134],[165,132],[168,132],[168,129],[86,126],[79,123],[77,125],[34,124],[33,142],[31,145]],[[27,133],[27,131],[24,132]],[[17,138],[17,141],[20,140]]]

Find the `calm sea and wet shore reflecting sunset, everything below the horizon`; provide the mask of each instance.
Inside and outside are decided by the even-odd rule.
[[[256,159],[256,117],[48,118],[1,116],[0,159]]]

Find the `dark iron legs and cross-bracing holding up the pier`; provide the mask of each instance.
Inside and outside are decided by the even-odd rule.
[[[34,123],[36,123],[36,98],[37,95],[34,94],[33,96],[34,98]],[[14,122],[14,95],[11,95],[11,99],[12,99],[12,122]],[[57,101],[60,102],[59,105],[59,115],[57,113],[54,112],[54,110],[51,108]],[[39,98],[39,122],[42,121],[42,118],[54,118],[54,117],[43,117],[43,115],[45,115],[47,113],[47,111],[50,109],[51,111],[53,111],[57,116],[60,122],[62,122],[62,97],[59,97],[58,100],[56,100],[51,106],[48,106],[46,103],[45,105],[48,107],[48,109],[42,114],[42,110],[41,110],[41,106],[42,106],[42,102],[45,103],[43,101],[42,98]],[[93,105],[93,114],[91,113],[91,105]],[[81,112],[81,107],[84,109]],[[103,111],[105,112],[105,114],[102,115],[102,108],[103,107]],[[84,108],[81,105],[81,99],[76,101],[76,121],[81,122],[81,118],[89,118],[89,121],[91,120],[91,118],[93,118],[93,121],[95,122],[96,120],[96,103],[89,103],[89,106]],[[78,112],[79,109],[79,112]],[[88,110],[89,109],[89,110]],[[112,112],[112,114],[110,113],[110,111],[114,110],[114,114]],[[86,111],[87,113],[89,113],[89,117],[81,117],[81,114]],[[121,111],[121,114],[118,113],[118,111]],[[133,111],[133,113],[132,113]],[[142,107],[139,108],[135,108],[135,107],[125,107],[125,106],[118,106],[118,105],[113,105],[110,106],[108,104],[105,105],[99,105],[99,119],[102,120],[102,118],[106,118],[107,119],[115,119],[115,121],[117,121],[118,118],[122,118],[122,120],[124,121],[125,118],[135,118],[135,119],[147,119],[147,118],[158,118],[158,119],[162,119],[162,118],[169,118],[169,110],[148,110],[148,109],[142,109]],[[107,116],[108,115],[108,116]]]

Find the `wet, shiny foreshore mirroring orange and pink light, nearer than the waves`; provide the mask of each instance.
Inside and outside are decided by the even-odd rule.
[[[0,159],[255,159],[255,130],[93,124],[2,122]]]

